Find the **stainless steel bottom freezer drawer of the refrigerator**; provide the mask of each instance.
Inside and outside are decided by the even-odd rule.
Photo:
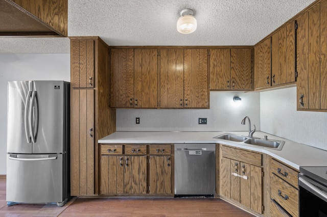
[[[66,199],[64,161],[65,154],[7,154],[7,201],[63,202]]]

